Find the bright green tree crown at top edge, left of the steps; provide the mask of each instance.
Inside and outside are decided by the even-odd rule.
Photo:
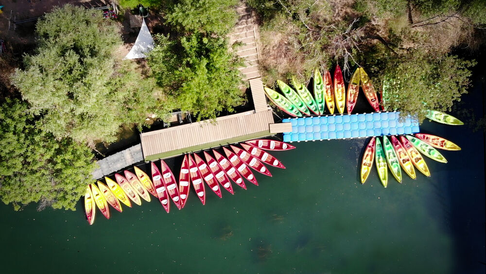
[[[224,36],[236,23],[237,3],[237,0],[180,0],[167,6],[166,18],[185,32]]]

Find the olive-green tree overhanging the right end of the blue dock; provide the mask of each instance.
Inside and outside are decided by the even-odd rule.
[[[425,110],[451,111],[467,93],[473,61],[454,55],[414,52],[393,58],[382,74],[383,102],[388,110],[425,119]]]

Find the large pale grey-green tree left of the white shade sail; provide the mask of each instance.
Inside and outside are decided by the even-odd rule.
[[[160,104],[154,82],[116,55],[119,28],[100,11],[56,7],[37,23],[36,34],[35,54],[24,56],[25,69],[12,81],[56,137],[110,142],[122,124],[143,123]]]

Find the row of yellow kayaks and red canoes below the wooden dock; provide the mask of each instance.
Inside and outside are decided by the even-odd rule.
[[[237,146],[230,146],[232,150],[223,147],[226,157],[214,149],[212,150],[214,157],[204,151],[206,161],[196,153],[184,155],[178,184],[172,170],[163,160],[160,160],[160,169],[156,163],[151,163],[151,179],[135,166],[136,174],[128,170],[124,171],[125,176],[116,173],[117,182],[105,177],[106,184],[98,181],[97,184],[88,185],[85,195],[85,211],[89,224],[94,222],[96,206],[104,217],[109,219],[108,204],[121,212],[121,203],[129,207],[132,206],[130,201],[140,205],[140,197],[150,201],[149,193],[160,201],[167,213],[170,211],[170,200],[178,209],[182,209],[188,201],[191,183],[196,196],[203,204],[206,203],[204,183],[220,198],[222,197],[220,185],[229,193],[234,194],[230,180],[243,189],[246,189],[243,178],[258,185],[251,169],[272,176],[264,164],[285,168],[277,158],[262,149],[290,150],[295,148],[284,142],[266,139],[251,140],[240,145],[243,149]]]

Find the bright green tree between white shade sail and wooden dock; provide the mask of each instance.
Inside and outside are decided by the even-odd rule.
[[[156,35],[156,46],[147,62],[157,84],[176,108],[190,111],[198,120],[243,103],[238,57],[227,50],[227,41],[196,33],[180,40]]]

